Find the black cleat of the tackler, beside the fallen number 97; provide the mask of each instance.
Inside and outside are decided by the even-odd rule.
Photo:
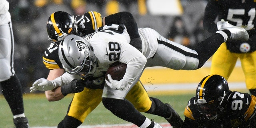
[[[165,118],[172,126],[172,128],[182,128],[183,120],[180,118],[180,115],[172,108],[170,104],[165,104],[169,111],[172,113],[169,118]]]

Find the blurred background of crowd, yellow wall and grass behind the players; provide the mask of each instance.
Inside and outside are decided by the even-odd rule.
[[[16,43],[14,69],[23,86],[25,111],[30,120],[30,125],[43,126],[43,124],[48,124],[47,126],[56,126],[57,122],[64,118],[67,106],[72,98],[71,95],[68,96],[69,98],[65,98],[67,100],[48,102],[44,92],[38,91],[38,94],[30,94],[29,88],[32,83],[39,78],[46,78],[49,72],[42,62],[42,55],[50,44],[46,32],[46,22],[50,14],[62,10],[76,16],[88,11],[97,11],[103,17],[116,12],[128,11],[134,15],[138,27],[153,28],[170,40],[194,48],[197,42],[209,36],[208,32],[202,28],[202,16],[207,1],[9,0],[9,11],[12,15],[14,41]],[[210,65],[211,59],[202,68],[194,71],[176,71],[162,67],[146,68],[140,80],[149,95],[160,96],[161,100],[172,103],[174,108],[182,115],[187,100],[194,95],[197,84],[210,73]],[[238,61],[228,79],[231,90],[247,91],[244,80],[244,74]],[[181,98],[184,99],[181,100]],[[38,101],[38,99],[41,100]],[[0,113],[4,115],[0,118],[0,124],[7,120],[6,122],[9,122],[9,125],[5,128],[8,128],[10,124],[12,125],[10,110],[2,95],[0,95],[0,101]],[[46,111],[49,106],[52,109]],[[58,107],[61,110],[57,109]],[[100,109],[97,108],[98,111],[95,113],[101,113]],[[56,113],[57,111],[58,113]],[[106,113],[106,115],[111,114]],[[38,121],[38,116],[42,121]],[[86,124],[100,124],[97,120],[104,120],[104,115],[92,114],[92,116],[94,118],[86,119],[86,122],[90,122]],[[49,120],[51,123],[49,123]],[[118,118],[114,118],[114,120],[118,123],[122,122]],[[160,120],[160,122],[164,122],[164,120]]]

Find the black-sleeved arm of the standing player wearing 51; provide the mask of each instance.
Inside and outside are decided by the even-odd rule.
[[[215,33],[218,31],[217,25],[215,24],[215,20],[219,14],[218,3],[215,0],[209,0],[206,8],[204,10],[204,29],[206,29],[210,33]]]

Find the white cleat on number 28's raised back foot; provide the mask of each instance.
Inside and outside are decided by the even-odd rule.
[[[217,22],[217,28],[219,31],[229,30],[230,31],[229,39],[242,40],[242,41],[246,41],[249,39],[249,34],[244,28],[229,24],[227,21],[225,21],[223,19],[221,21]]]

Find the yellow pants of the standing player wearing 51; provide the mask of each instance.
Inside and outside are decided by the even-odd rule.
[[[221,75],[228,80],[238,58],[245,75],[246,88],[256,89],[256,51],[232,53],[227,49],[226,43],[223,43],[212,57],[210,73]]]

